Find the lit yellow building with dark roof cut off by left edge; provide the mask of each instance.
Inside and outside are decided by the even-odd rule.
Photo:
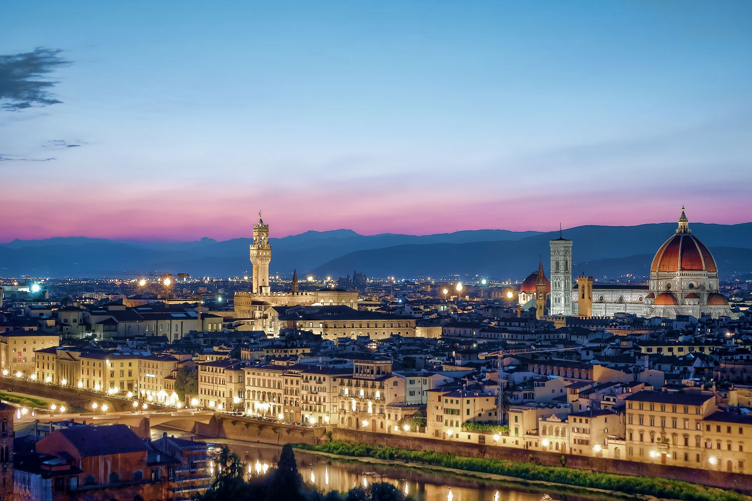
[[[15,329],[0,333],[0,370],[15,375],[38,377],[35,352],[60,344],[57,334],[41,330]]]

